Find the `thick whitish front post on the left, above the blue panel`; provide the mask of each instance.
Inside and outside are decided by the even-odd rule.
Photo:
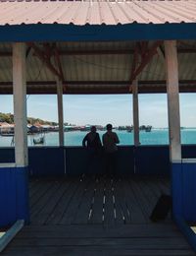
[[[27,121],[25,43],[13,44],[13,92],[15,119],[15,161],[17,166],[27,165]]]

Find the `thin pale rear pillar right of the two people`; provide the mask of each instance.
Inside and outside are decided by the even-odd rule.
[[[133,138],[134,146],[139,146],[139,107],[138,107],[138,83],[132,83],[132,109],[133,109]]]

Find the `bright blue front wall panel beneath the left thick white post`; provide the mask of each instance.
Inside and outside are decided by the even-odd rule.
[[[0,227],[29,222],[27,167],[0,168]]]

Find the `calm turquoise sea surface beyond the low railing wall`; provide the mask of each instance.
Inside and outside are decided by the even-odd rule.
[[[119,135],[120,145],[132,145],[133,134],[126,131],[116,131]],[[99,132],[102,136],[104,132]],[[82,139],[86,132],[66,132],[65,145],[66,146],[81,146]],[[33,146],[33,138],[39,138],[40,135],[28,135],[28,146]],[[12,137],[0,136],[0,147],[10,147]],[[167,129],[152,129],[151,132],[140,132],[141,145],[167,145],[169,144],[169,131]],[[181,130],[181,143],[182,144],[196,144],[196,129],[183,129]],[[58,146],[59,137],[58,133],[46,133],[44,146]],[[41,147],[41,146],[37,146]]]

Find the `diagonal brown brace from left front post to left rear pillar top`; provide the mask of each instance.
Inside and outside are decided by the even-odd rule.
[[[27,42],[27,45],[30,46],[34,50],[34,54],[45,63],[46,67],[57,77],[63,80],[61,74],[56,70],[56,68],[52,65],[50,56],[48,53],[42,51],[38,46],[36,46],[33,42]]]

